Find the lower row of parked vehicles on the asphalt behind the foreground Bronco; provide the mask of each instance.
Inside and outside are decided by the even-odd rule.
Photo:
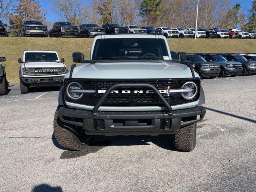
[[[171,56],[176,58],[176,52],[171,51]],[[0,57],[0,62],[5,60],[5,57]],[[31,86],[61,85],[68,72],[64,59],[60,59],[56,51],[26,50],[18,62],[21,63],[19,76],[22,94],[28,93]],[[201,78],[256,74],[256,53],[187,54],[185,63],[191,64]],[[0,95],[7,93],[6,71],[0,63]]]

